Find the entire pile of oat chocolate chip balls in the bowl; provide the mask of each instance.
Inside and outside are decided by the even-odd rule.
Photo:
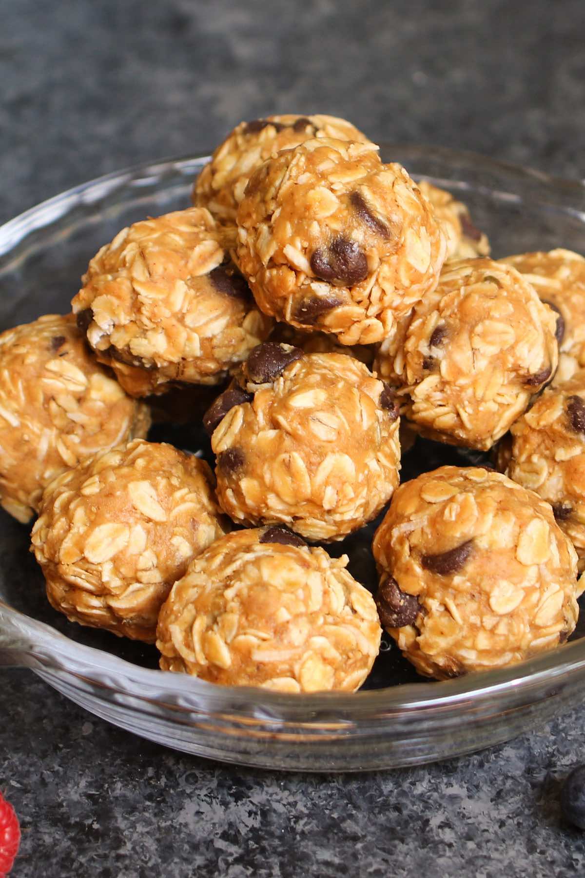
[[[563,643],[585,260],[490,258],[466,205],[329,116],[242,122],[192,200],[104,243],[73,313],[0,336],[0,497],[38,515],[54,608],[155,643],[165,670],[286,693],[357,689],[382,629],[441,680]],[[215,474],[146,441],[170,399]],[[417,435],[502,472],[399,486]],[[316,543],[386,507],[373,595]]]

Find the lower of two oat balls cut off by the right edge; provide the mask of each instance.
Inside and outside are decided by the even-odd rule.
[[[585,568],[585,370],[548,388],[510,428],[506,473],[536,491]]]

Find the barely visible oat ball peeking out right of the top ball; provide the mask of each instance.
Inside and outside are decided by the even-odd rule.
[[[473,259],[489,256],[488,236],[474,227],[467,205],[456,201],[451,192],[426,180],[418,188],[432,205],[447,242],[447,259]]]

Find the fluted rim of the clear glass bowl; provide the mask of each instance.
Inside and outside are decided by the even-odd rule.
[[[574,205],[567,212],[577,213],[585,223],[585,186],[579,180],[549,176],[543,171],[500,162],[464,150],[426,147],[410,144],[382,144],[386,151],[416,158],[428,157],[453,165],[486,169],[513,176],[526,184],[536,184],[543,191],[562,191],[567,200],[574,196]],[[209,160],[209,155],[181,156],[158,162],[144,162],[127,169],[96,177],[49,198],[9,220],[0,227],[0,270],[10,263],[11,250],[34,231],[50,226],[76,204],[98,200],[103,193],[132,185],[147,185],[153,177],[168,174],[183,176],[187,186],[196,172]],[[426,176],[426,175],[418,175]],[[555,201],[557,199],[554,199]],[[4,257],[4,258],[3,258]],[[206,712],[229,711],[240,719],[259,716],[278,723],[302,724],[310,729],[323,728],[325,716],[339,717],[342,723],[358,723],[375,717],[388,719],[417,710],[425,720],[439,711],[443,718],[460,709],[462,702],[475,709],[490,709],[495,700],[505,709],[506,702],[528,703],[560,680],[575,683],[585,676],[585,637],[565,644],[556,651],[543,653],[518,665],[500,670],[468,674],[445,682],[428,681],[395,687],[360,691],[353,694],[318,692],[314,694],[280,694],[253,687],[220,687],[188,675],[150,670],[132,665],[110,653],[96,650],[65,637],[46,623],[11,608],[0,600],[0,666],[32,666],[50,672],[68,673],[80,680],[106,687],[112,692],[135,696],[140,700],[177,704]],[[551,694],[555,694],[554,690]],[[546,697],[546,695],[543,695]],[[550,695],[549,695],[550,697]],[[391,724],[388,726],[391,733]]]

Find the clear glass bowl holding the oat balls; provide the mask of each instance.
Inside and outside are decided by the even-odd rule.
[[[580,183],[440,148],[385,146],[382,157],[465,200],[496,256],[583,249]],[[103,176],[0,228],[0,328],[68,312],[90,256],[121,227],[189,205],[191,184],[206,161],[188,157]],[[153,437],[191,450],[204,442],[196,426]],[[404,458],[403,478],[470,460],[478,463],[481,455],[419,441]],[[0,665],[30,667],[97,716],[177,750],[309,771],[413,765],[512,738],[585,688],[585,625],[557,651],[448,682],[417,677],[385,642],[374,673],[356,694],[277,694],[161,672],[153,647],[55,613],[26,551],[29,529],[0,515]],[[353,574],[373,587],[371,534],[370,526],[330,550],[347,551]]]

